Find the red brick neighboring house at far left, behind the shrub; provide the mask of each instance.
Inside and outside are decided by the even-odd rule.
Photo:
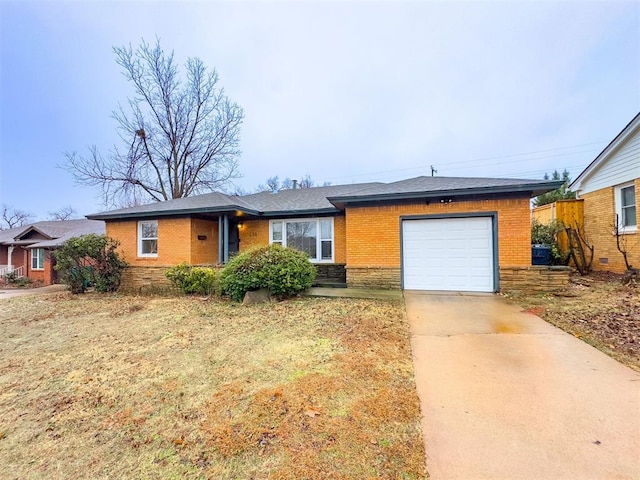
[[[98,220],[56,220],[36,222],[0,231],[0,278],[13,272],[43,285],[56,283],[55,260],[51,252],[73,237],[104,234]]]

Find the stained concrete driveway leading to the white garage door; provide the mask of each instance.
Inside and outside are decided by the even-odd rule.
[[[405,292],[427,469],[640,479],[640,374],[495,295]]]

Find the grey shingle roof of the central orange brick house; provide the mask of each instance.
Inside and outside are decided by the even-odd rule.
[[[320,214],[338,212],[349,202],[393,201],[437,194],[481,195],[518,192],[535,196],[553,190],[561,183],[511,178],[416,177],[393,183],[355,183],[243,196],[214,192],[96,213],[87,217],[108,220],[235,211],[256,216]]]

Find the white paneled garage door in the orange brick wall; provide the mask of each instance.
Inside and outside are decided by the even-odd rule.
[[[405,290],[493,292],[491,217],[402,222]]]

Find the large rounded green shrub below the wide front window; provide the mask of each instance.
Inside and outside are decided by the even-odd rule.
[[[267,288],[277,298],[306,290],[316,278],[316,269],[303,252],[281,245],[258,247],[232,258],[220,275],[223,294],[242,301],[244,294]]]

